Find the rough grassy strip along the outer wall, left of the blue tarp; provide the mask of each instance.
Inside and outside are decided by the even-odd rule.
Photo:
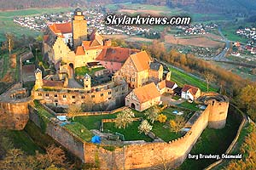
[[[75,122],[74,124],[67,124],[64,127],[87,142],[89,142],[92,137],[92,133],[79,122]]]

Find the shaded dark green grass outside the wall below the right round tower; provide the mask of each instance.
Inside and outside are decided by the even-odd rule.
[[[190,154],[222,154],[228,149],[236,136],[240,121],[236,116],[228,115],[226,126],[223,129],[206,128],[201,137],[197,140]],[[209,166],[216,159],[186,159],[178,169],[203,169]]]

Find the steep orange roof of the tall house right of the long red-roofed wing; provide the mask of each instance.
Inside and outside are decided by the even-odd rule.
[[[137,54],[131,54],[130,57],[138,72],[149,70],[149,63],[151,59],[146,51],[141,51]]]

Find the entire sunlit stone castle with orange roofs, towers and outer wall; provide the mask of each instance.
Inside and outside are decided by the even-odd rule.
[[[207,126],[225,126],[229,108],[229,99],[225,96],[204,94],[200,88],[190,85],[177,87],[177,83],[171,81],[171,72],[165,73],[163,65],[146,51],[112,47],[111,41],[96,31],[89,36],[86,23],[82,10],[77,8],[72,23],[49,26],[44,35],[43,53],[44,59],[55,66],[56,73],[44,77],[43,71],[37,69],[31,96],[20,84],[0,95],[0,117],[6,127],[23,129],[28,119],[41,127],[40,117],[30,105],[34,99],[56,107],[93,104],[100,106],[96,111],[112,111],[125,105],[145,111],[160,105],[162,94],[179,94],[183,99],[207,105],[204,111],[196,111],[189,118],[186,127],[190,129],[179,139],[168,143],[155,140],[137,144],[130,141],[115,150],[105,150],[77,138],[60,126],[60,121],[56,123],[55,118],[47,122],[45,133],[83,162],[101,161],[104,165],[108,160],[99,153],[105,153],[116,163],[116,169],[137,169],[160,165],[160,159],[177,167]],[[81,67],[87,69],[82,77],[75,74],[76,68]]]

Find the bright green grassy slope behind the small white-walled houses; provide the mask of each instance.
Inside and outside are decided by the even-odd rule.
[[[177,71],[176,69],[169,67],[170,71],[172,71],[172,81],[176,82],[178,86],[183,87],[184,84],[189,84],[192,86],[195,86],[197,88],[200,88],[201,91],[206,92],[207,91],[207,83],[203,82],[202,80],[196,78],[196,77],[191,77],[187,73]],[[216,88],[212,88],[210,86],[209,91],[214,91],[216,92]]]

